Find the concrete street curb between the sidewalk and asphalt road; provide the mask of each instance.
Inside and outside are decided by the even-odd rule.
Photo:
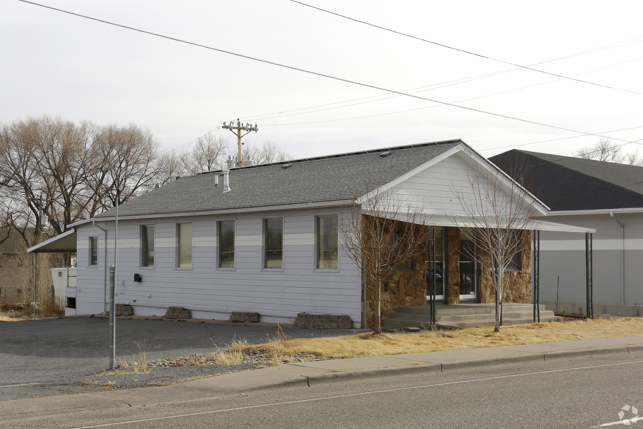
[[[191,397],[183,401],[173,401],[172,397],[165,398],[163,403],[192,403],[194,401],[201,401],[213,399],[221,395],[240,394],[243,392],[260,392],[262,390],[271,390],[275,388],[293,388],[293,387],[314,387],[329,383],[343,383],[347,381],[354,381],[360,379],[374,379],[386,378],[406,375],[426,374],[428,372],[450,372],[454,370],[480,368],[480,367],[496,367],[501,365],[508,365],[511,363],[527,363],[527,362],[542,362],[554,361],[566,358],[583,358],[589,356],[601,356],[605,354],[622,354],[643,352],[643,344],[634,345],[617,345],[607,347],[592,347],[588,349],[570,349],[551,352],[530,352],[529,354],[514,355],[514,356],[501,356],[495,358],[481,358],[481,359],[468,359],[460,361],[452,361],[447,363],[432,363],[420,362],[408,363],[406,365],[399,365],[395,367],[385,367],[368,370],[352,370],[352,371],[336,371],[326,372],[323,374],[314,374],[310,376],[294,376],[292,378],[272,381],[270,383],[263,383],[252,387],[242,387],[239,389],[226,390],[225,392],[216,392],[211,396],[203,396],[199,398]],[[81,414],[84,412],[93,412],[99,410],[114,410],[119,408],[140,408],[141,406],[154,405],[156,401],[136,401],[132,403],[111,403],[105,405],[89,405],[78,408],[60,408],[59,410],[28,412],[20,414],[5,414],[0,415],[0,423],[8,423],[12,421],[21,421],[29,419],[37,419],[42,417],[55,417],[57,415],[67,414]]]

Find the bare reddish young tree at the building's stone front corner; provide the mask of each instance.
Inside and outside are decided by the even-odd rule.
[[[361,192],[354,193],[352,203],[344,210],[338,221],[341,246],[352,264],[375,284],[374,329],[380,334],[383,283],[396,268],[426,253],[428,228],[412,206],[394,194],[381,192],[370,182]]]

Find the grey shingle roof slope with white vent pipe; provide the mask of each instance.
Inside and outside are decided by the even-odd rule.
[[[166,183],[123,203],[120,216],[242,210],[269,206],[345,201],[370,181],[381,186],[452,149],[462,140],[433,141],[320,156],[303,160],[230,169],[230,192],[223,181],[214,188],[215,174],[208,172]],[[388,156],[381,156],[390,152]],[[284,169],[285,165],[290,167]],[[95,219],[113,217],[114,209]]]

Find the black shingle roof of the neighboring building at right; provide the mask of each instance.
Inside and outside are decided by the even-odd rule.
[[[643,167],[512,149],[489,158],[525,184],[552,211],[643,207]]]

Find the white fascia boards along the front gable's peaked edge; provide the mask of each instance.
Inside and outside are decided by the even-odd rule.
[[[449,156],[454,155],[457,152],[464,153],[465,156],[467,156],[467,158],[469,158],[469,160],[471,160],[472,162],[477,163],[478,165],[481,165],[487,171],[491,172],[496,177],[500,178],[503,181],[503,183],[505,183],[505,185],[507,187],[511,187],[511,183],[514,182],[514,179],[512,179],[511,176],[509,176],[509,174],[503,172],[503,170],[501,170],[498,167],[496,167],[496,165],[494,163],[492,163],[491,161],[487,160],[487,158],[485,158],[484,156],[482,156],[481,154],[476,152],[475,149],[473,149],[472,147],[470,147],[469,145],[467,145],[466,143],[463,142],[463,143],[459,143],[456,147],[453,147],[453,148],[449,149],[448,151],[444,152],[443,154],[440,154],[439,156],[436,156],[432,160],[426,161],[424,164],[420,165],[419,167],[416,167],[413,170],[410,170],[406,174],[403,174],[402,176],[399,176],[399,178],[396,178],[396,179],[394,179],[394,180],[392,180],[392,181],[390,181],[388,183],[385,183],[385,185],[382,185],[381,187],[377,188],[376,190],[372,190],[371,192],[368,192],[368,194],[365,194],[365,195],[359,197],[358,200],[357,200],[357,203],[358,204],[363,204],[364,201],[367,201],[368,198],[374,196],[375,194],[379,194],[380,192],[385,192],[385,191],[389,190],[390,188],[394,187],[395,185],[398,185],[399,183],[402,183],[404,180],[406,180],[408,178],[411,178],[412,176],[415,176],[415,174],[418,174],[419,172],[428,169],[429,167],[431,167],[431,165],[437,164],[442,160],[446,160],[446,158],[449,158]],[[543,203],[538,198],[536,198],[536,196],[531,194],[529,192],[529,190],[525,189],[522,185],[520,185],[520,183],[516,183],[516,185],[518,185],[518,187],[520,187],[520,189],[523,190],[523,192],[525,192],[526,194],[529,194],[529,195],[532,196],[532,198],[534,199],[534,207],[536,208],[536,210],[538,210],[538,212],[540,212],[543,215],[547,214],[547,212],[550,209],[549,209],[549,207],[547,207],[547,205],[545,205],[545,203]]]

